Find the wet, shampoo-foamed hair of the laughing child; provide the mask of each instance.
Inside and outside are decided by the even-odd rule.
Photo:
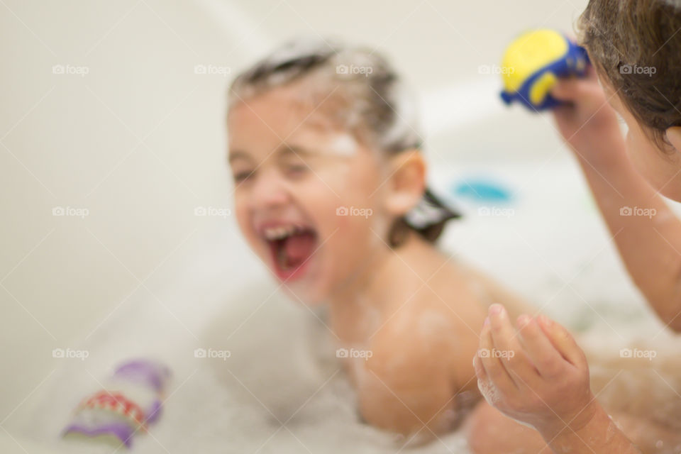
[[[229,87],[228,109],[251,96],[305,78],[311,92],[321,92],[323,111],[336,126],[352,131],[371,148],[394,154],[421,149],[419,116],[414,96],[399,74],[376,50],[344,45],[337,40],[299,38],[277,48],[252,67],[238,74]],[[330,95],[333,92],[332,95]],[[318,99],[319,101],[319,99]],[[315,106],[316,107],[316,106]],[[412,226],[406,218],[394,221],[389,243],[404,241],[409,229],[435,242],[445,223],[459,215],[429,191],[424,201],[444,213],[441,221]]]

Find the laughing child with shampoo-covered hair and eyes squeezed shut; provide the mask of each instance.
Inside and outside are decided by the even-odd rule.
[[[414,102],[375,50],[297,40],[236,77],[229,162],[245,240],[294,301],[328,304],[362,418],[453,428],[478,396],[487,307],[523,303],[441,253]],[[362,354],[363,353],[363,354]]]

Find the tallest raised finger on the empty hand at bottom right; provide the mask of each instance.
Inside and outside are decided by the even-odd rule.
[[[520,345],[504,306],[500,304],[489,306],[489,322],[492,327],[494,348],[496,348],[494,353],[501,358],[511,380],[516,383],[516,386],[521,387],[526,380],[532,380],[536,372]]]

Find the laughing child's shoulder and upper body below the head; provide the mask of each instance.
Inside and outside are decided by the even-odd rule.
[[[331,306],[361,414],[424,438],[450,430],[479,397],[471,358],[487,306],[527,306],[417,236],[376,273],[392,283],[380,301]]]

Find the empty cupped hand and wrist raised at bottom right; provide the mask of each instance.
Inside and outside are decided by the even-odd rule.
[[[502,306],[490,306],[474,358],[487,401],[536,428],[555,453],[640,454],[594,399],[570,333],[543,316],[521,316],[518,328]]]

